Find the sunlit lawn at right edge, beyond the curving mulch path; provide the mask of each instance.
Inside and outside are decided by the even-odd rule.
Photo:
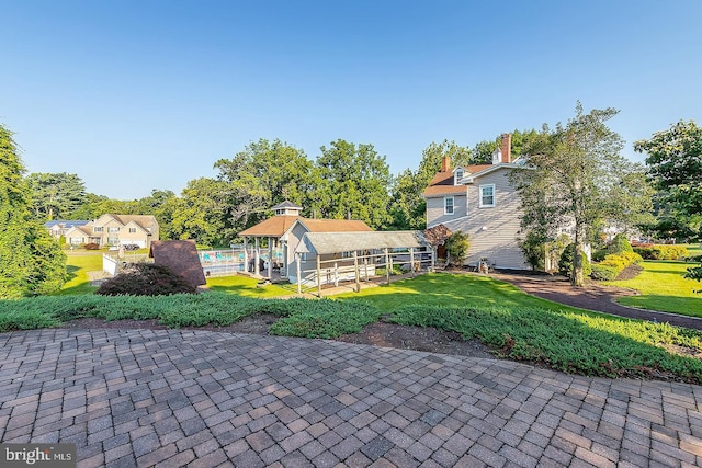
[[[687,269],[693,265],[670,260],[647,260],[641,263],[644,270],[635,278],[603,284],[641,293],[641,296],[620,298],[619,303],[624,306],[702,317],[702,295],[694,293],[702,288],[702,284],[684,278]]]

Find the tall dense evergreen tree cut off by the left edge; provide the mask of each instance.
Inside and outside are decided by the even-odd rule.
[[[0,298],[58,290],[66,255],[32,214],[24,165],[12,134],[0,125]]]

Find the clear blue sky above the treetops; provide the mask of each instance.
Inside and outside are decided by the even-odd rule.
[[[180,194],[250,141],[372,144],[393,173],[444,138],[615,107],[648,138],[702,123],[700,0],[0,0],[0,123],[30,172]]]

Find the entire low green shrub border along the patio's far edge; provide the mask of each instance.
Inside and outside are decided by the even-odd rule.
[[[414,281],[414,279],[409,279]],[[268,312],[281,317],[271,334],[337,338],[382,319],[363,300],[254,299],[210,293],[157,297],[95,295],[0,301],[0,331],[58,327],[77,318],[156,319],[168,327],[227,326]],[[702,350],[702,333],[590,312],[540,308],[405,306],[386,315],[395,323],[453,330],[478,338],[502,357],[574,374],[648,377],[702,384],[702,361],[663,346]]]

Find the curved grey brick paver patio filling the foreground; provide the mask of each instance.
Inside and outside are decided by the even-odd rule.
[[[0,334],[0,440],[80,467],[702,466],[702,387],[207,331]]]

